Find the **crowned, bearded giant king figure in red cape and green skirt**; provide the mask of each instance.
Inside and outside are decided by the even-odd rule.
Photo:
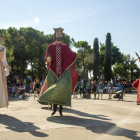
[[[77,56],[61,42],[63,30],[61,27],[54,28],[55,42],[48,46],[45,56],[48,74],[38,100],[43,105],[54,105],[51,115],[55,114],[57,105],[60,105],[61,116],[62,106],[71,106],[71,94],[78,80],[78,73],[75,70]]]

